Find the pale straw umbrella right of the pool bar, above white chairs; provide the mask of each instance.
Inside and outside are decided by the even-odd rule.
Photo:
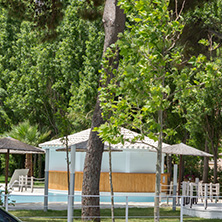
[[[194,147],[188,146],[184,143],[174,144],[171,146],[163,147],[162,149],[163,153],[167,154],[176,154],[180,156],[180,162],[179,162],[179,185],[178,185],[178,192],[180,191],[180,183],[182,180],[182,158],[183,156],[206,156],[206,157],[212,157],[213,155],[206,153],[204,151],[198,150]]]

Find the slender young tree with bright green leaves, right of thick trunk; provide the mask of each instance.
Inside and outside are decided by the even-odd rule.
[[[180,14],[172,19],[166,1],[121,1],[129,19],[128,29],[117,44],[120,64],[114,78],[100,88],[102,115],[107,120],[100,129],[101,137],[110,143],[122,142],[120,126],[128,126],[141,136],[158,140],[154,219],[159,221],[162,142],[172,131],[164,125],[163,112],[171,106],[173,83],[178,78],[181,49],[175,47],[183,25]],[[115,48],[114,48],[115,49]],[[110,50],[109,56],[113,54]],[[104,61],[102,84],[110,79]],[[170,100],[171,98],[171,100]]]

